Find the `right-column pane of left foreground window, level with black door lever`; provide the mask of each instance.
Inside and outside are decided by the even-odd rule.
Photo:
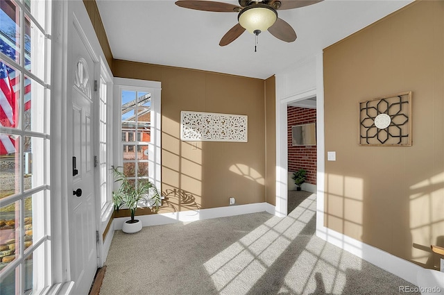
[[[24,189],[44,184],[44,139],[24,137],[23,174]]]

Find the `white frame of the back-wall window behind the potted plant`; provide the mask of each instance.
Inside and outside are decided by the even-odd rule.
[[[151,93],[151,142],[148,143],[148,179],[152,181],[157,189],[161,189],[161,83],[156,81],[137,80],[129,78],[114,78],[114,118],[113,130],[117,138],[113,138],[113,146],[118,147],[114,150],[114,166],[123,166],[123,143],[121,142],[121,93],[122,91],[138,91]],[[137,138],[135,138],[137,139]]]

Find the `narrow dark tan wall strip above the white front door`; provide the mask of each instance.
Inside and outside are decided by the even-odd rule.
[[[106,61],[108,62],[108,66],[112,70],[111,47],[108,43],[108,37],[106,36],[105,27],[103,26],[103,22],[99,14],[99,8],[97,8],[96,0],[83,0],[83,3],[85,4],[85,8],[88,12],[89,19],[91,19],[94,31],[96,31],[97,39],[99,39],[103,54],[105,54]]]

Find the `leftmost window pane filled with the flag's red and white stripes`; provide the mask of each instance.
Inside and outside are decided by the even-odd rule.
[[[20,128],[20,72],[10,67],[3,60],[0,60],[0,79],[3,80],[1,86],[3,99],[0,105],[0,124],[3,127]]]

